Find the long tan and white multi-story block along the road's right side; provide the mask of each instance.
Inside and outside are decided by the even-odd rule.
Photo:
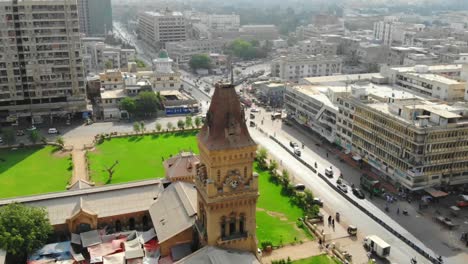
[[[288,87],[288,117],[408,190],[468,182],[466,102],[438,102],[380,78],[322,78],[334,77],[342,83]]]

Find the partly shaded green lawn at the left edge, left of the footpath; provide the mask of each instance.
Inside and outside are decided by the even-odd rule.
[[[0,150],[0,198],[64,191],[72,174],[68,155],[54,147]]]

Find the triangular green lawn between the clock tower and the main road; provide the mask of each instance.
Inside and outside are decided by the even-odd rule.
[[[260,197],[257,202],[257,238],[259,242],[270,241],[274,246],[290,244],[295,240],[311,238],[296,225],[302,217],[302,210],[289,202],[289,197],[281,195],[281,186],[269,181],[269,173],[255,164],[259,173]]]

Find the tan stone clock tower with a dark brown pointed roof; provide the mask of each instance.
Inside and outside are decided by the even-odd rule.
[[[257,145],[234,85],[216,84],[198,147],[196,228],[201,244],[256,254],[259,194],[252,169]]]

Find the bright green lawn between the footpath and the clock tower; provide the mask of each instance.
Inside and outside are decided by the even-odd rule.
[[[108,174],[105,168],[115,161],[115,173],[111,183],[123,183],[150,178],[163,178],[162,158],[176,155],[179,151],[192,150],[198,153],[198,132],[164,133],[148,136],[131,136],[105,140],[88,152],[90,177],[96,184],[105,184]]]

